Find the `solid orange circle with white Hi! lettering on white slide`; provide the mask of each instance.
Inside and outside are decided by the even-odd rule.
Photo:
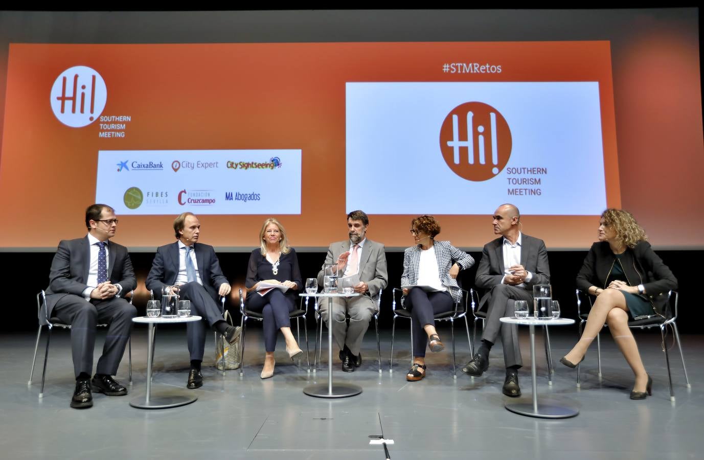
[[[486,181],[511,156],[511,131],[503,115],[482,102],[465,102],[447,114],[440,151],[448,167],[468,181]]]

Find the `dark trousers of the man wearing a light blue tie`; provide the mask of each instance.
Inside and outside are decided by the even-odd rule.
[[[180,287],[180,300],[191,301],[191,314],[203,317],[201,321],[191,321],[186,324],[186,337],[191,360],[203,361],[206,350],[206,334],[208,329],[222,319],[220,307],[210,293],[196,281],[182,284]]]

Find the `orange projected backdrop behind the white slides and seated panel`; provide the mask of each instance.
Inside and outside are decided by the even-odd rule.
[[[444,63],[501,65],[501,72],[452,73]],[[51,87],[75,65],[103,77],[108,96],[101,115],[128,117],[124,137],[101,137],[106,129],[99,121],[74,128],[54,115]],[[99,151],[300,149],[301,214],[277,217],[297,248],[325,248],[346,236],[346,82],[598,82],[607,204],[620,206],[608,41],[11,44],[0,207],[13,225],[0,246],[55,248],[61,238],[80,236],[84,209],[96,196]],[[390,171],[388,180],[408,178]],[[413,185],[419,192],[441,187]],[[493,237],[489,215],[499,204],[486,196],[485,215],[436,216],[439,238],[481,247]],[[130,248],[161,245],[172,239],[173,217],[121,215],[115,241]],[[251,248],[265,217],[201,215],[202,239]],[[410,245],[410,217],[370,215],[370,238],[391,248]],[[589,245],[596,221],[522,218],[524,231],[551,248]]]

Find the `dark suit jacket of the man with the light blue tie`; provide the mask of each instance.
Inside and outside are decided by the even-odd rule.
[[[210,297],[218,301],[218,290],[222,283],[227,283],[227,278],[222,275],[218,256],[215,255],[213,246],[203,243],[193,243],[193,250],[196,253],[196,264]],[[156,248],[156,256],[151,263],[151,270],[146,276],[146,288],[154,293],[161,293],[164,286],[172,286],[176,283],[179,271],[179,248],[178,241]]]

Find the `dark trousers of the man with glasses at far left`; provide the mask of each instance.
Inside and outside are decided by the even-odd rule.
[[[132,318],[137,316],[137,309],[130,302],[115,297],[89,302],[80,295],[68,294],[56,302],[51,316],[71,325],[71,353],[76,377],[81,372],[92,373],[96,325],[109,324],[96,373],[108,376],[118,373],[132,332]]]

